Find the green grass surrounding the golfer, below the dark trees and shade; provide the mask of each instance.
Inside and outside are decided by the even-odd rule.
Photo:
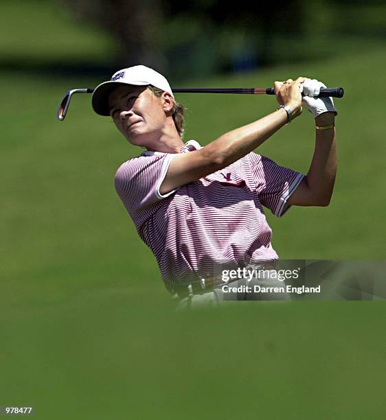
[[[268,215],[283,259],[385,259],[385,65],[370,49],[180,84],[271,86],[305,75],[345,88],[330,207]],[[65,90],[101,80],[0,75],[0,406],[31,404],[37,419],[381,418],[381,303],[173,312],[113,187],[117,167],[140,150],[87,95],[73,98],[64,122],[55,117]],[[188,106],[185,140],[202,144],[276,107],[252,95],[177,99]],[[260,152],[306,172],[313,137],[305,110]]]

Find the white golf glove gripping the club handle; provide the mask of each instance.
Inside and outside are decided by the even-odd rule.
[[[334,108],[332,97],[315,97],[319,95],[320,88],[325,88],[326,84],[316,79],[306,79],[301,86],[303,86],[302,106],[307,108],[314,118],[327,112],[333,112],[335,115],[338,115],[338,111]]]

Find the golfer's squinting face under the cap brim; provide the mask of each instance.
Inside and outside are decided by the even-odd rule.
[[[166,124],[163,95],[156,97],[147,86],[133,85],[119,86],[110,94],[110,115],[133,145],[148,147],[161,137]]]

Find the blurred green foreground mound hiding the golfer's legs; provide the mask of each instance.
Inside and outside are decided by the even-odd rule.
[[[380,419],[383,312],[308,302],[176,314],[128,288],[81,292],[9,314],[1,401],[58,420]]]

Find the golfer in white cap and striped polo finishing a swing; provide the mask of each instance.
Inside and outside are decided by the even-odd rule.
[[[307,78],[275,82],[279,108],[203,147],[184,143],[183,106],[157,71],[130,67],[97,86],[95,112],[111,116],[131,144],[146,148],[120,166],[115,187],[172,294],[190,303],[226,299],[219,267],[272,268],[279,258],[263,207],[281,217],[291,205],[328,205],[337,169],[337,110],[330,98],[316,98],[322,86]],[[299,117],[302,106],[316,124],[306,175],[253,152]]]

